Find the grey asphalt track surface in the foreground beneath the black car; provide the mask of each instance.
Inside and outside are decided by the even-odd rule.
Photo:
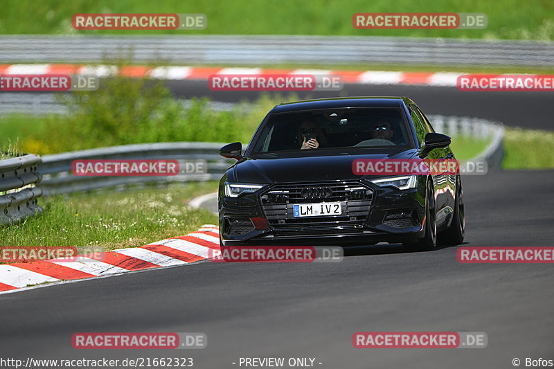
[[[484,98],[459,102],[467,111],[431,109],[440,90],[402,94],[429,114],[502,110]],[[532,100],[510,107],[515,121],[528,121]],[[465,246],[554,246],[553,179],[551,170],[463,177]],[[515,357],[524,368],[526,357],[554,359],[552,264],[460,264],[456,247],[406,253],[388,244],[346,255],[340,263],[202,262],[4,294],[1,357],[188,355],[200,369],[239,368],[240,357],[314,357],[316,368],[334,369],[513,368]],[[488,347],[356,349],[360,331],[485,332]],[[75,332],[204,332],[208,347],[74,350]]]

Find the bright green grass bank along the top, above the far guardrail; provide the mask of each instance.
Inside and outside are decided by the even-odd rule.
[[[82,12],[204,13],[208,26],[196,31],[77,31],[71,16]],[[483,30],[357,30],[356,12],[484,12]],[[0,33],[99,33],[156,35],[377,35],[485,39],[554,39],[554,3],[548,0],[3,0]]]

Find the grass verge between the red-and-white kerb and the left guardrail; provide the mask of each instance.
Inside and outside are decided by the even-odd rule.
[[[193,197],[217,190],[216,181],[145,188],[128,192],[74,194],[40,200],[44,213],[1,229],[3,246],[138,247],[217,224],[205,209],[186,206]]]

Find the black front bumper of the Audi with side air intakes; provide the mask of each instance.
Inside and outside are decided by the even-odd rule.
[[[292,216],[294,200],[277,205],[267,201],[267,194],[272,190],[294,186],[294,183],[269,186],[258,193],[237,198],[225,197],[220,190],[218,206],[222,244],[348,246],[409,242],[423,237],[425,181],[418,181],[418,185],[409,190],[379,187],[364,181],[354,183],[356,186],[363,184],[370,195],[364,199],[343,198],[341,202],[346,210],[341,217],[310,219]]]

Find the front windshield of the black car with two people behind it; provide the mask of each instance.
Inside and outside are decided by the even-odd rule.
[[[253,153],[409,145],[401,109],[321,109],[273,114]]]

